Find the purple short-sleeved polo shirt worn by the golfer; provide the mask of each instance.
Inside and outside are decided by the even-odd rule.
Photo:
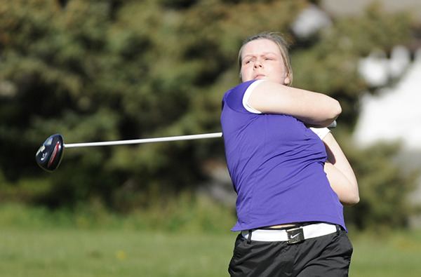
[[[225,156],[237,193],[232,231],[293,222],[345,228],[342,204],[323,171],[323,142],[293,116],[248,112],[243,95],[250,83],[228,90],[222,100]]]

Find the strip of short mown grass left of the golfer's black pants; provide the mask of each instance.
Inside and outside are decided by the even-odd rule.
[[[226,276],[234,235],[7,230],[1,276]]]

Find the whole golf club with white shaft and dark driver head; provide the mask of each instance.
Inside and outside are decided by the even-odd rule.
[[[333,123],[331,123],[328,128],[336,128],[336,121],[333,121]],[[152,142],[174,142],[179,140],[201,140],[213,137],[222,137],[222,133],[178,135],[173,137],[154,137],[138,140],[114,140],[109,142],[82,142],[71,144],[65,144],[62,135],[55,134],[48,137],[41,145],[41,147],[39,147],[38,151],[36,151],[35,159],[36,163],[38,163],[42,169],[48,172],[52,172],[58,168],[58,165],[60,165],[65,148],[142,144]]]

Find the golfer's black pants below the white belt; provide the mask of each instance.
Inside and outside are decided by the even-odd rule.
[[[348,276],[352,244],[345,231],[338,231],[301,243],[247,241],[236,238],[229,263],[231,276]]]

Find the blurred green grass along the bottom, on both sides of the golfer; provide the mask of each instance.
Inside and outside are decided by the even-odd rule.
[[[102,215],[95,225],[86,223],[93,218],[90,212],[75,217],[78,221],[65,212],[1,205],[0,276],[228,276],[236,234],[213,227],[225,224],[222,215],[201,217],[212,228],[199,228],[199,220],[153,230],[135,217]],[[354,245],[349,276],[421,276],[421,231],[351,231],[349,236]]]

